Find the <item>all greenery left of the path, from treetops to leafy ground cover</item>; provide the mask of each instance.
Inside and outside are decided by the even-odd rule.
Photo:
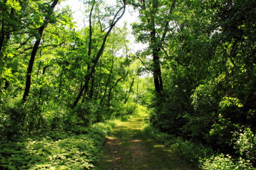
[[[125,1],[84,1],[81,29],[60,3],[0,2],[1,169],[91,169],[108,132],[95,123],[136,109]]]

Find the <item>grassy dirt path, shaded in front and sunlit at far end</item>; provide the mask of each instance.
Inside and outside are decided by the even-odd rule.
[[[170,148],[143,133],[145,108],[111,131],[97,169],[195,169]]]

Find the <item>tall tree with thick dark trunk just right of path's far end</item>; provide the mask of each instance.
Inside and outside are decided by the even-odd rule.
[[[154,85],[157,93],[163,91],[163,79],[161,73],[161,46],[166,34],[170,30],[169,24],[176,1],[138,1],[131,2],[140,11],[141,24],[134,24],[134,31],[138,34],[138,40],[149,42],[152,55],[152,70]],[[141,31],[149,32],[143,34]]]

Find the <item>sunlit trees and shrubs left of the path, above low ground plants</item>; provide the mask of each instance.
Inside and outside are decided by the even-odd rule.
[[[115,27],[125,1],[84,1],[89,25],[81,29],[58,3],[1,1],[2,139],[87,127],[134,110],[123,105],[136,102],[129,89],[139,65],[127,29]]]

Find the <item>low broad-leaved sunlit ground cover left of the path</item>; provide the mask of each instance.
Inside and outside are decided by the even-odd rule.
[[[91,169],[99,160],[106,134],[124,117],[91,127],[74,126],[38,136],[0,141],[0,169]]]

